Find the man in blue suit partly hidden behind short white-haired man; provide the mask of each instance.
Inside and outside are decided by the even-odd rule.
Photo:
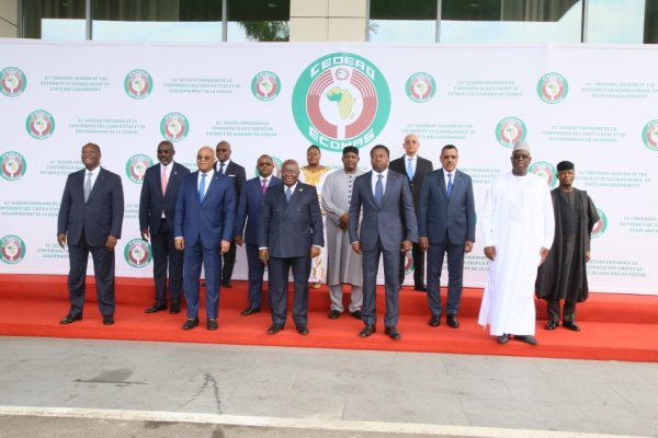
[[[265,265],[259,257],[258,229],[260,227],[260,212],[268,187],[281,184],[281,180],[272,176],[274,163],[272,157],[261,155],[257,162],[258,176],[245,184],[240,194],[238,214],[236,216],[235,241],[247,251],[247,267],[249,269],[249,307],[241,315],[247,316],[260,312],[263,295],[263,274]]]

